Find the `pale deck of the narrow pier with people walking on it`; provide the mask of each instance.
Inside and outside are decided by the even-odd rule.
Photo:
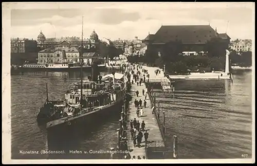
[[[144,138],[142,138],[142,143],[140,144],[140,147],[134,147],[133,144],[133,140],[130,134],[130,124],[128,122],[128,133],[127,133],[127,145],[128,148],[130,149],[130,155],[131,157],[135,156],[136,158],[138,156],[140,156],[141,158],[143,156],[145,156],[146,158],[149,158],[149,149],[152,148],[152,150],[154,149],[155,152],[161,152],[161,156],[160,155],[154,155],[156,158],[162,158],[162,152],[166,151],[165,150],[165,142],[163,141],[163,138],[161,136],[161,132],[160,132],[160,128],[158,126],[155,114],[152,114],[152,105],[151,105],[151,100],[149,98],[149,95],[147,94],[146,97],[146,108],[142,108],[143,109],[143,116],[142,117],[137,117],[136,114],[136,110],[137,108],[135,107],[134,101],[135,99],[142,100],[142,105],[143,105],[143,101],[144,101],[144,96],[142,95],[142,90],[145,89],[145,84],[141,84],[137,86],[137,84],[132,84],[132,89],[131,89],[131,96],[132,96],[132,100],[130,102],[130,110],[128,110],[128,121],[134,120],[134,118],[136,118],[136,120],[139,120],[140,124],[142,123],[142,121],[144,121],[145,123],[145,128],[146,130],[148,130],[149,133],[149,137],[148,137],[148,143],[145,145],[145,141]],[[139,91],[139,96],[136,96],[135,91]],[[141,127],[141,126],[140,126]],[[142,132],[144,133],[144,132]],[[159,153],[160,154],[160,153]],[[153,156],[153,155],[151,155]],[[151,157],[152,158],[152,157]]]

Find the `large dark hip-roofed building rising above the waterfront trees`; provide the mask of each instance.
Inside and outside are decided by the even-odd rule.
[[[151,45],[159,53],[167,43],[181,43],[183,52],[202,52],[212,39],[222,39],[219,41],[226,47],[230,43],[226,33],[218,34],[210,25],[161,26],[155,34],[149,33],[143,43]]]

